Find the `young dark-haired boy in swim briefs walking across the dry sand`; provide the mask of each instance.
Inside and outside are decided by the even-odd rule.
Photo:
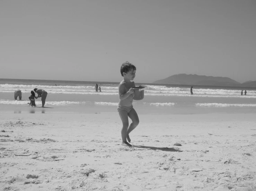
[[[121,75],[124,79],[120,82],[118,86],[119,98],[117,111],[123,122],[123,128],[121,130],[122,135],[122,145],[132,146],[130,143],[131,139],[129,137],[130,132],[137,127],[139,124],[139,117],[136,111],[133,109],[133,89],[135,83],[133,79],[135,78],[136,67],[129,62],[125,62],[121,66]],[[132,123],[129,126],[128,117],[131,118]],[[126,140],[127,139],[127,140]],[[128,142],[127,142],[128,141]]]

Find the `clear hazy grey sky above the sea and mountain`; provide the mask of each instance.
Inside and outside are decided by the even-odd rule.
[[[255,0],[0,0],[0,78],[256,80]]]

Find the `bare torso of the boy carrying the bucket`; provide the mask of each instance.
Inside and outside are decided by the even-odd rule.
[[[123,81],[120,82],[118,88],[119,88],[119,91],[121,89],[122,93],[126,93],[132,87],[135,87],[134,81],[131,81],[130,83],[127,83],[127,82],[124,82],[124,80],[123,80]],[[128,96],[126,99],[119,100],[118,105],[125,106],[125,107],[130,107],[132,105],[132,102],[133,102],[133,93],[130,94],[130,96]]]

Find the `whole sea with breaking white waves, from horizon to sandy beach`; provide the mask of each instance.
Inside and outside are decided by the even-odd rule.
[[[101,92],[94,90],[95,84]],[[57,86],[55,86],[57,84]],[[0,79],[0,111],[21,110],[28,112],[30,91],[41,88],[47,91],[45,112],[115,113],[118,105],[119,82],[53,81]],[[211,113],[211,112],[255,112],[256,89],[246,88],[247,96],[241,96],[240,87],[191,86],[136,83],[147,86],[144,99],[134,100],[134,108],[142,113]],[[14,100],[14,91],[20,89],[22,100]],[[41,106],[41,98],[36,100]],[[211,109],[209,109],[211,108]],[[41,108],[42,109],[42,108]],[[33,109],[41,112],[39,108]]]

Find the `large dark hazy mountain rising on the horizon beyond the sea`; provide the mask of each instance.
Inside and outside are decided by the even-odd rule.
[[[175,74],[153,83],[205,85],[205,86],[240,86],[241,83],[227,77],[199,76],[196,74]],[[249,82],[251,83],[251,82]]]

